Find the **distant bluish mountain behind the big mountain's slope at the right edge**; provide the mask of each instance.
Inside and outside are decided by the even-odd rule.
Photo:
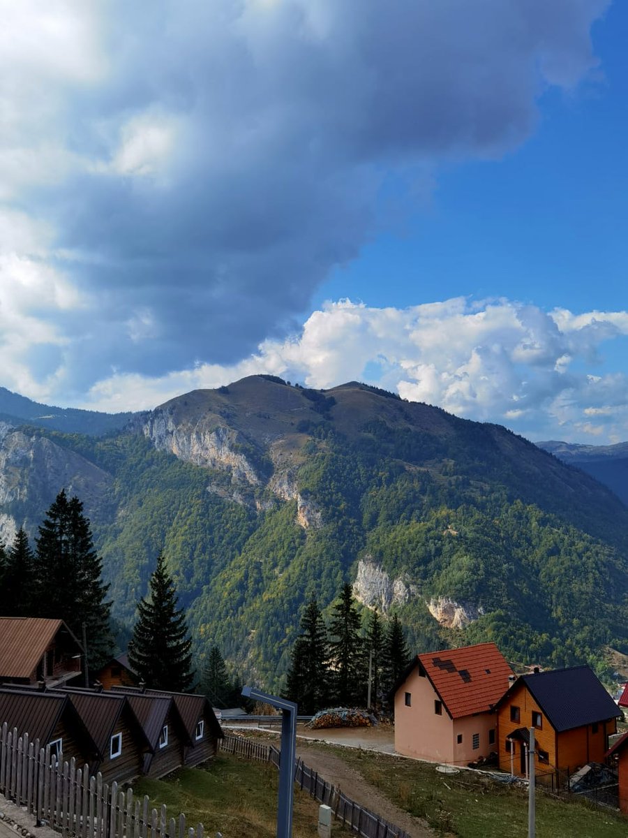
[[[612,489],[628,506],[628,442],[616,445],[577,445],[574,442],[537,442],[564,463],[582,468]]]

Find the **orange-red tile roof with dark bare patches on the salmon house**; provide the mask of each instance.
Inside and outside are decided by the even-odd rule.
[[[417,655],[452,718],[490,710],[507,691],[512,670],[494,643]]]

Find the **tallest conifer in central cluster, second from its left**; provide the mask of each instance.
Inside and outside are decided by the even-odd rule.
[[[342,587],[340,602],[334,606],[329,631],[329,656],[335,701],[343,706],[364,704],[367,696],[360,617],[348,582]]]

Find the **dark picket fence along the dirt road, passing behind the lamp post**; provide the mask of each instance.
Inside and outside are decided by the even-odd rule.
[[[225,736],[219,747],[225,753],[234,753],[262,763],[273,763],[277,768],[281,763],[281,752],[276,747],[251,742],[244,737]],[[329,806],[338,820],[342,820],[363,838],[410,838],[410,835],[398,826],[348,798],[337,786],[328,783],[316,771],[308,768],[302,759],[297,759],[295,763],[295,783],[314,799]]]

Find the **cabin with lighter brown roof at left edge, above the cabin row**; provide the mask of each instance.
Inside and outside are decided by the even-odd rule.
[[[58,686],[81,672],[83,647],[63,620],[0,617],[0,684]]]

